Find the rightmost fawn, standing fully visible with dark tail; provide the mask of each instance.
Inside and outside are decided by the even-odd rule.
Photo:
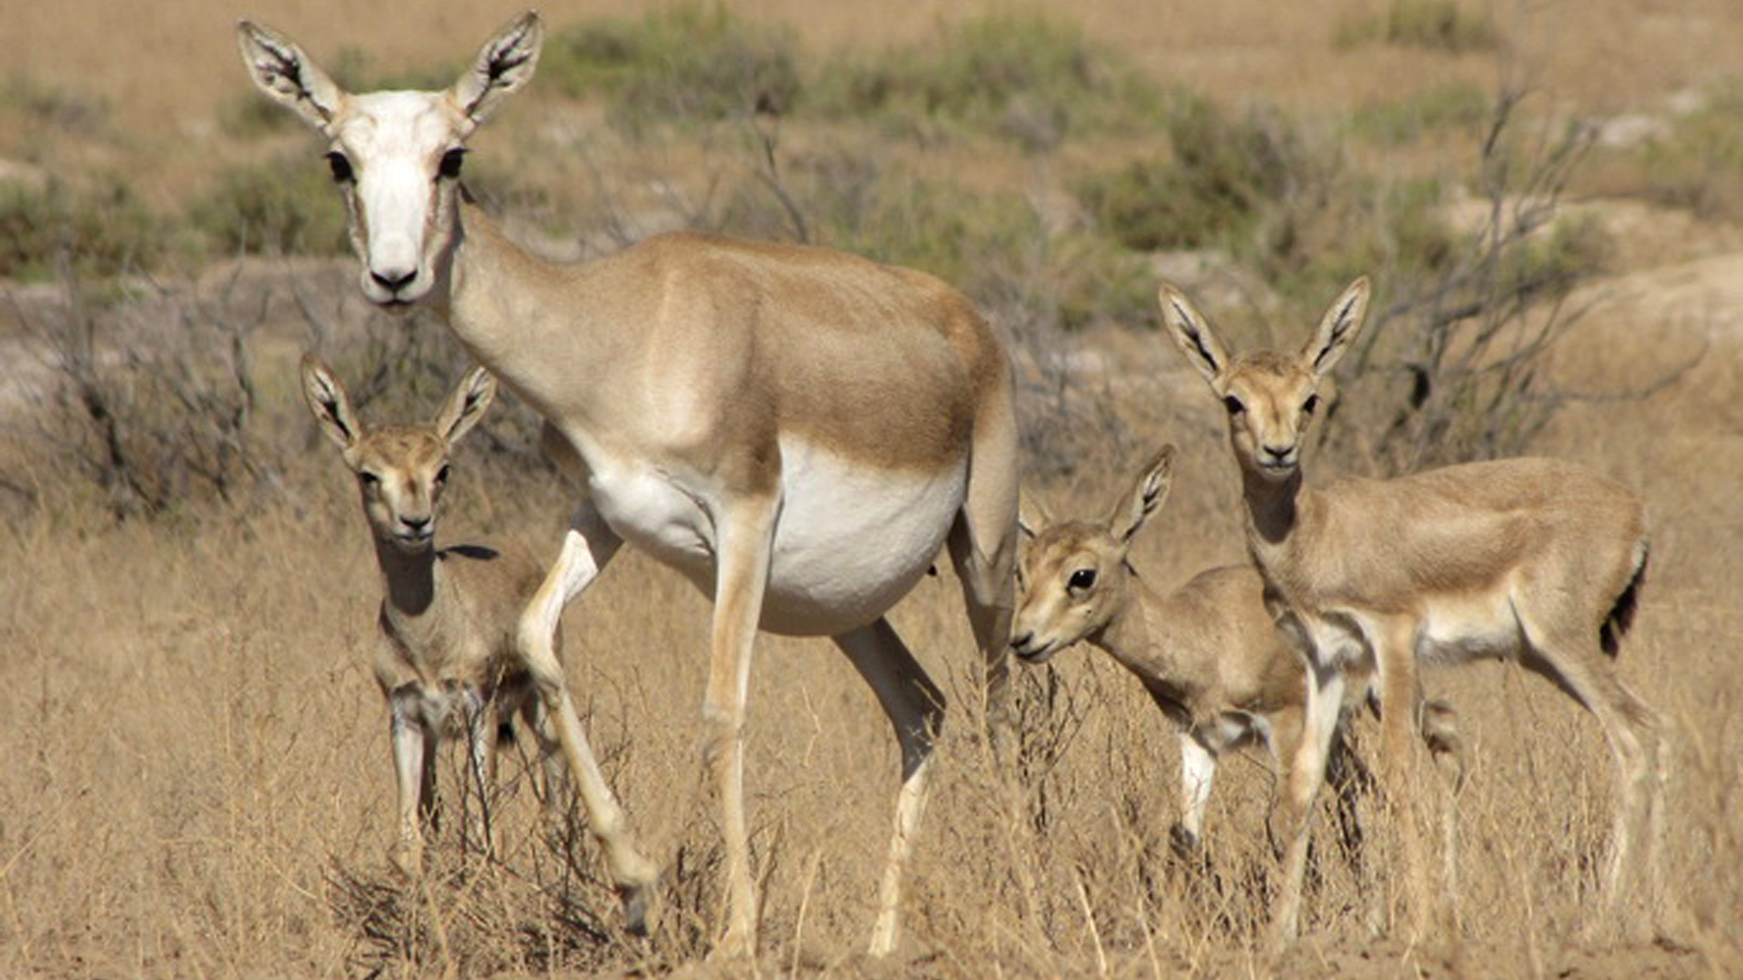
[[[1307,734],[1292,769],[1295,835],[1272,938],[1297,931],[1309,814],[1353,671],[1373,670],[1382,704],[1380,785],[1398,825],[1410,909],[1429,919],[1414,807],[1410,710],[1421,664],[1506,659],[1548,678],[1604,727],[1616,813],[1604,917],[1633,886],[1645,839],[1658,891],[1668,766],[1665,722],[1616,675],[1647,561],[1640,499],[1550,459],[1448,466],[1398,480],[1302,480],[1304,436],[1325,377],[1363,326],[1368,279],[1349,284],[1299,352],[1232,354],[1183,293],[1163,319],[1227,410],[1246,544],[1267,600],[1307,659]]]

